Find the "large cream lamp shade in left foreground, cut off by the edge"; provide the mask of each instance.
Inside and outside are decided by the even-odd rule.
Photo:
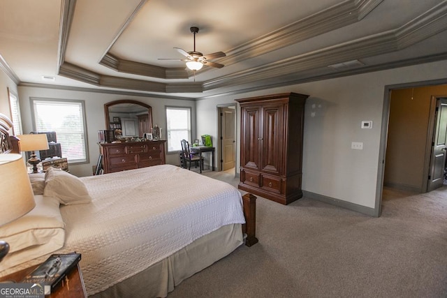
[[[0,226],[14,221],[35,206],[27,167],[20,154],[0,154]]]

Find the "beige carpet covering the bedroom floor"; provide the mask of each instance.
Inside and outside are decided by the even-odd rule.
[[[237,185],[233,174],[205,175]],[[447,186],[384,191],[380,218],[302,198],[257,200],[259,243],[182,282],[175,297],[447,297]]]

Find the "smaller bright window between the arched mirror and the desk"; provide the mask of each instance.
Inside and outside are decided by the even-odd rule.
[[[181,140],[191,140],[191,108],[166,107],[168,153],[182,151]]]

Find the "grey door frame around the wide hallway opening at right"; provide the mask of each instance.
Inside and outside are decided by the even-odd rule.
[[[411,82],[411,83],[402,83],[402,84],[393,84],[386,85],[383,95],[383,112],[382,112],[382,121],[381,121],[381,137],[380,137],[380,146],[379,146],[379,161],[378,161],[378,171],[377,171],[377,184],[376,184],[376,202],[374,204],[374,216],[379,217],[381,214],[381,204],[382,204],[382,193],[383,193],[383,177],[385,176],[385,161],[386,161],[386,145],[388,140],[388,124],[390,121],[390,100],[391,100],[391,91],[393,89],[408,89],[412,87],[427,87],[427,86],[435,86],[435,85],[443,85],[447,84],[446,79],[442,80],[429,80],[429,81],[421,81],[421,82]],[[433,97],[433,96],[432,96]],[[436,96],[435,96],[436,98]],[[432,99],[431,99],[432,100]],[[430,105],[430,121],[434,116],[432,116]],[[430,122],[431,123],[431,122]],[[433,129],[432,127],[429,129]],[[430,135],[431,144],[431,135]],[[425,165],[430,163],[430,155],[425,154]],[[427,173],[425,173],[427,171]],[[427,174],[425,177],[428,177],[428,167],[424,167],[424,173]],[[427,181],[425,181],[425,189],[427,189]]]

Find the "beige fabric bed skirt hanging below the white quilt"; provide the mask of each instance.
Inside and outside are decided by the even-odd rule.
[[[89,297],[166,297],[179,283],[225,257],[243,241],[240,224],[224,225],[125,281]]]

